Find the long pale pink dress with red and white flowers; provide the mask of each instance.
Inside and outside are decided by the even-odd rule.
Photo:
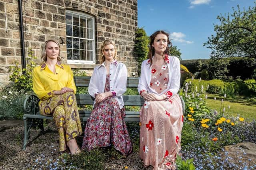
[[[160,94],[168,86],[166,64],[151,67],[150,88]],[[179,96],[171,100],[145,101],[140,110],[140,158],[154,170],[174,170],[176,154],[180,151],[183,125],[182,104]]]

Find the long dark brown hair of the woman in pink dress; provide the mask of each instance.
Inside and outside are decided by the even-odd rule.
[[[148,53],[148,59],[150,59],[151,63],[150,63],[150,66],[152,65],[153,61],[152,61],[152,57],[155,55],[155,49],[154,47],[152,47],[153,43],[154,43],[154,40],[156,38],[156,35],[158,34],[164,34],[167,36],[167,47],[166,47],[166,50],[164,51],[164,54],[163,54],[163,57],[164,55],[169,55],[169,45],[170,47],[172,47],[172,43],[169,39],[169,33],[167,33],[166,31],[163,31],[163,30],[158,30],[156,32],[154,32],[152,35],[150,35],[150,43],[149,43],[149,53]]]

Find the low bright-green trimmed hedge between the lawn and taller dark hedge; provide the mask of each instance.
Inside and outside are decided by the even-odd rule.
[[[187,79],[184,81],[183,87],[185,88],[186,83],[190,83],[188,92],[203,92],[212,94],[240,94],[246,96],[256,95],[256,81],[255,80],[236,80],[232,82],[224,82],[222,80],[198,80],[198,79]],[[208,89],[207,89],[208,87]]]

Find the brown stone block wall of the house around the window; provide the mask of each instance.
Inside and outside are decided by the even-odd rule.
[[[100,43],[112,38],[118,47],[118,61],[126,64],[129,76],[137,76],[133,52],[138,13],[137,0],[23,0],[25,51],[32,48],[40,57],[40,47],[47,39],[61,45],[66,63],[66,10],[90,14],[95,18],[96,59]],[[7,32],[5,21],[7,18]],[[0,0],[0,82],[8,82],[9,66],[21,63],[21,45],[17,0]],[[38,59],[38,63],[40,60]],[[98,64],[98,62],[96,63]],[[70,64],[72,68],[92,73],[95,64]]]

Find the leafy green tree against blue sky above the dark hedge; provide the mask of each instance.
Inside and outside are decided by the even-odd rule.
[[[214,25],[216,35],[208,37],[204,46],[212,49],[211,58],[251,57],[256,58],[256,2],[253,8],[243,12],[234,10],[226,16],[220,14],[220,25]]]

